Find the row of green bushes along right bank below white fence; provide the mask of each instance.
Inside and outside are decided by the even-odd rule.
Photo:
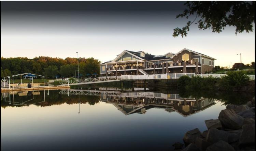
[[[182,76],[179,78],[177,85],[180,90],[221,90],[221,91],[240,91],[254,92],[255,80],[250,78],[244,72],[231,72],[227,76],[217,77],[200,77]]]

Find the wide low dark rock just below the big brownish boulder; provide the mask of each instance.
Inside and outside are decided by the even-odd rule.
[[[226,141],[228,143],[236,142],[239,140],[239,135],[236,133],[230,133],[226,131],[221,131],[217,129],[210,129],[206,136],[206,141],[210,143],[215,143],[220,140]]]

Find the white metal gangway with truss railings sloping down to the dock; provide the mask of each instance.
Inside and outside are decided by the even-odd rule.
[[[86,85],[86,84],[96,84],[102,82],[113,82],[120,81],[121,76],[112,77],[99,77],[99,78],[88,78],[88,79],[75,79],[75,80],[61,80],[59,84],[62,86],[72,86],[72,85]]]

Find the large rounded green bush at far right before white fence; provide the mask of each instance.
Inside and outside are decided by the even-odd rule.
[[[249,79],[245,72],[230,72],[222,77],[218,84],[223,90],[240,90],[242,86],[248,84]]]

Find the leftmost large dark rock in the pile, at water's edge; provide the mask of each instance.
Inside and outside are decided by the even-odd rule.
[[[188,131],[185,136],[183,137],[183,141],[185,143],[185,146],[187,146],[190,143],[194,143],[196,141],[197,137],[202,137],[201,132],[199,131],[198,128],[194,130]]]

